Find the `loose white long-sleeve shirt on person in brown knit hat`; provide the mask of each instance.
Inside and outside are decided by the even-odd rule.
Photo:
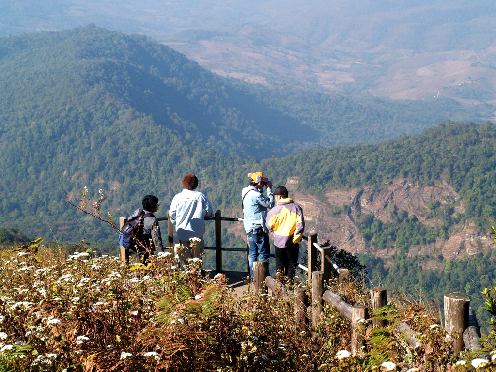
[[[212,215],[212,204],[205,194],[186,188],[174,196],[169,209],[171,222],[176,225],[176,234],[182,241],[205,234],[205,217]]]

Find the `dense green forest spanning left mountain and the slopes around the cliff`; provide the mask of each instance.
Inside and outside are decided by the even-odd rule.
[[[215,209],[240,216],[250,171],[263,171],[276,185],[299,177],[299,190],[317,195],[340,187],[380,189],[395,178],[444,180],[460,194],[465,213],[432,203],[429,214],[441,221],[435,228],[401,210],[391,211],[389,223],[360,216],[357,226],[372,252],[387,245],[400,251],[391,268],[371,254],[361,259],[373,280],[407,290],[420,285],[429,299],[448,288],[477,295],[478,286],[495,278],[485,263],[492,253],[443,261],[441,272],[422,269],[429,257],[406,255],[413,246],[446,239],[467,220],[482,231],[496,220],[495,126],[448,121],[463,115],[453,101],[248,85],[143,36],[94,26],[0,39],[0,98],[1,243],[19,242],[22,234],[71,243],[85,237],[114,251],[115,232],[63,199],[66,192],[77,201],[84,186],[93,197],[105,190],[103,212],[115,218],[148,193],[160,198],[163,216],[182,177],[194,173]],[[470,120],[472,113],[466,115]],[[441,119],[446,123],[429,128]],[[395,139],[379,142],[387,138]],[[213,226],[207,226],[209,244]],[[223,231],[225,246],[245,246],[227,233],[227,224]],[[226,269],[246,268],[242,253],[224,258]],[[482,275],[475,278],[469,267]],[[413,280],[424,272],[429,282]]]

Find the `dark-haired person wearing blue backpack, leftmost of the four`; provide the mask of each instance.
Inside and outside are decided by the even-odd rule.
[[[149,252],[154,254],[155,249],[157,253],[162,252],[164,245],[157,218],[153,214],[158,211],[158,197],[146,195],[141,205],[143,208],[136,209],[121,229],[119,244],[130,253],[142,256],[142,262],[145,263],[148,261]]]

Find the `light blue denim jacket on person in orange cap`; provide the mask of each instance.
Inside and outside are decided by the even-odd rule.
[[[259,227],[268,233],[265,220],[267,219],[267,208],[274,207],[274,192],[267,188],[267,196],[264,196],[262,191],[253,186],[245,187],[241,191],[244,206],[243,225],[247,233]]]

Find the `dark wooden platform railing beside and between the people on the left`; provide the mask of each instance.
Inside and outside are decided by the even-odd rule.
[[[158,221],[167,221],[167,232],[168,232],[168,245],[169,248],[174,247],[174,225],[169,217],[169,211],[167,211],[167,217],[158,217]],[[222,221],[231,222],[243,222],[242,218],[234,217],[221,217],[220,210],[217,210],[213,217],[205,217],[205,221],[215,221],[215,246],[205,246],[205,249],[215,250],[215,271],[222,272],[222,252],[232,251],[232,252],[247,252],[247,272],[249,273],[249,262],[248,253],[249,246],[247,243],[247,248],[226,248],[222,247]],[[122,229],[124,224],[127,222],[127,218],[119,218],[119,228]],[[273,255],[272,255],[273,256]],[[124,247],[121,246],[121,260],[129,262],[129,251],[126,251]]]

